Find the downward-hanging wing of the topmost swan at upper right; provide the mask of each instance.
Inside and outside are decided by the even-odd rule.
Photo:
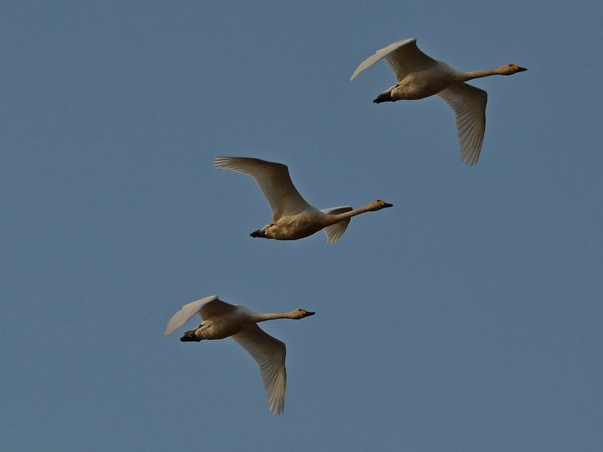
[[[455,83],[441,90],[437,96],[454,111],[461,160],[466,165],[475,165],[486,130],[488,93],[467,83]]]

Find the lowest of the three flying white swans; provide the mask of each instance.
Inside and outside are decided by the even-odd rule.
[[[262,374],[262,383],[268,395],[268,406],[273,414],[280,415],[285,407],[285,344],[270,334],[264,333],[257,322],[273,319],[303,319],[314,315],[304,309],[278,314],[253,312],[238,304],[218,300],[216,295],[201,298],[185,304],[169,319],[163,336],[168,336],[176,328],[182,327],[195,314],[203,322],[197,328],[186,331],[180,338],[182,342],[200,342],[203,339],[224,339],[232,337],[256,360]]]

